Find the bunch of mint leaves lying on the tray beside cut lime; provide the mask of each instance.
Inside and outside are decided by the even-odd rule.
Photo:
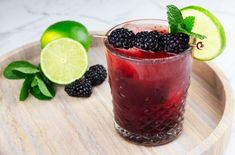
[[[20,101],[26,100],[29,93],[39,100],[50,100],[55,96],[54,85],[42,73],[40,66],[27,61],[14,61],[5,68],[3,75],[7,79],[24,79]]]

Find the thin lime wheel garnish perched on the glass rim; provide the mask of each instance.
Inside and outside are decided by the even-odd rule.
[[[193,48],[193,57],[197,60],[208,61],[214,59],[224,50],[226,36],[220,21],[208,10],[199,6],[188,6],[181,9],[183,17],[194,16],[193,32],[203,34],[207,38],[200,40],[204,45],[202,50]]]

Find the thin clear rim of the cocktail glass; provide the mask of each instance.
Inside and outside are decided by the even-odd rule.
[[[127,24],[127,23],[135,23],[135,22],[165,22],[166,23],[166,26],[168,26],[168,22],[167,20],[164,20],[164,19],[134,19],[134,20],[129,20],[129,21],[125,21],[123,23],[120,23],[120,24],[117,24],[115,26],[113,26],[111,29],[109,29],[107,32],[106,32],[106,36],[108,36],[108,34],[110,34],[111,31],[113,31],[114,29],[116,29],[117,27],[121,26],[121,25],[124,25],[124,24]],[[185,51],[179,53],[179,54],[176,54],[174,56],[170,56],[170,57],[164,57],[164,58],[137,58],[137,57],[131,57],[131,56],[127,56],[127,55],[124,55],[124,54],[120,54],[118,52],[115,52],[115,49],[113,47],[111,47],[111,45],[108,43],[108,40],[107,38],[104,38],[104,45],[105,47],[108,49],[108,52],[110,52],[112,55],[114,56],[117,56],[117,57],[120,57],[122,59],[126,59],[126,60],[129,60],[129,61],[135,61],[135,62],[168,62],[168,61],[174,61],[174,60],[178,60],[182,57],[184,57],[185,55],[187,55],[188,53],[191,53],[191,50],[192,50],[192,47],[190,46],[188,49],[186,49]]]

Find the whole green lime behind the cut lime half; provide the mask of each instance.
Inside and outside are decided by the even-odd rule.
[[[41,37],[41,47],[59,38],[70,38],[80,42],[88,51],[91,37],[86,27],[76,21],[61,21],[49,26]]]

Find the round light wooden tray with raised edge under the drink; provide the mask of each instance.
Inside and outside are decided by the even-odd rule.
[[[230,86],[217,67],[194,61],[186,103],[184,131],[169,144],[145,147],[123,140],[113,126],[108,80],[90,98],[72,98],[57,87],[51,101],[30,96],[19,102],[22,81],[7,80],[2,71],[13,60],[39,61],[38,43],[0,58],[0,154],[130,154],[222,155],[232,126],[234,101]],[[102,40],[93,38],[90,64],[106,66]]]

